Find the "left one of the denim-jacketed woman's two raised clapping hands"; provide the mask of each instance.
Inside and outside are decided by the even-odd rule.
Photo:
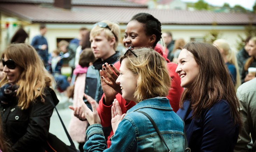
[[[91,101],[91,107],[92,111],[90,108],[87,107],[87,105],[84,103],[84,100],[81,97],[78,97],[78,100],[81,104],[83,113],[89,122],[90,125],[95,124],[95,123],[101,123],[101,119],[99,119],[98,112],[96,110],[96,101]]]

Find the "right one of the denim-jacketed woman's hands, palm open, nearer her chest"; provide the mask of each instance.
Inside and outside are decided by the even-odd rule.
[[[117,99],[114,99],[113,106],[111,107],[111,114],[112,114],[112,119],[111,119],[111,125],[113,132],[115,134],[118,124],[123,120],[125,113],[122,113],[122,109],[117,101]]]

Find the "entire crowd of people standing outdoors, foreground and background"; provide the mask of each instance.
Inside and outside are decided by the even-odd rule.
[[[20,28],[2,52],[0,152],[48,151],[55,91],[72,98],[79,151],[256,151],[256,37],[238,53],[225,39],[186,43],[138,13],[126,52],[119,25],[105,20],[49,55],[46,32],[29,45]]]

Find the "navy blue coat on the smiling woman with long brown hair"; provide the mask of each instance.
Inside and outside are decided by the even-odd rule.
[[[192,111],[186,117],[190,101],[185,101],[177,114],[185,122],[188,147],[192,152],[233,152],[239,126],[234,125],[230,107],[226,100],[220,100],[211,108],[203,109],[198,118]]]

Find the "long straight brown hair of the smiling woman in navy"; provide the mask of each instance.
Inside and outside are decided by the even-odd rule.
[[[218,48],[199,42],[188,43],[183,48],[194,55],[199,74],[191,87],[182,93],[180,106],[186,99],[190,100],[193,117],[199,117],[202,109],[210,108],[224,99],[229,103],[234,122],[241,126],[235,87]]]

